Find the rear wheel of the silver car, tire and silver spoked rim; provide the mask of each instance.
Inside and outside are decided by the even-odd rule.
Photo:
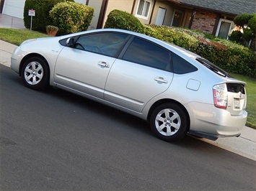
[[[175,103],[164,103],[151,114],[150,126],[155,136],[163,141],[180,141],[188,131],[188,116]]]

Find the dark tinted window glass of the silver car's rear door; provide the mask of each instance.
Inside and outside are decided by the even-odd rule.
[[[169,51],[144,39],[134,37],[123,60],[171,71]]]

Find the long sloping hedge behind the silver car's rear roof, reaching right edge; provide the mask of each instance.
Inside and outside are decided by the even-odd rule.
[[[213,62],[229,73],[256,78],[256,54],[242,45],[226,39],[206,38],[202,32],[193,32],[189,29],[165,26],[146,26],[149,34],[162,40],[195,52],[201,57]],[[152,36],[152,35],[151,35]]]

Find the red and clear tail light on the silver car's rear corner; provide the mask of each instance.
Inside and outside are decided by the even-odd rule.
[[[213,86],[213,100],[216,108],[226,109],[228,103],[228,90],[226,83]]]

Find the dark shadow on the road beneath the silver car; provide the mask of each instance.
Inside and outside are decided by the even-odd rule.
[[[4,69],[9,70],[7,69],[7,67],[4,67]],[[22,83],[22,79],[19,78],[18,75],[15,73],[13,73],[13,75],[4,74],[4,76],[1,77],[4,78],[4,80],[11,81],[12,84],[14,84],[15,86],[14,88],[16,89],[16,92],[25,91],[25,93],[35,93],[35,95],[43,94],[43,97],[45,98],[54,98],[58,100],[60,99],[61,101],[71,103],[72,105],[82,108],[83,110],[89,110],[90,112],[95,113],[95,115],[106,116],[107,118],[115,118],[115,121],[118,121],[119,124],[129,126],[129,128],[133,129],[133,131],[148,136],[148,138],[151,139],[151,141],[152,139],[154,139],[154,141],[160,141],[162,142],[162,144],[172,144],[173,146],[185,147],[187,149],[202,149],[202,146],[207,144],[201,141],[200,139],[190,135],[185,136],[185,139],[182,139],[182,141],[167,143],[165,141],[157,139],[151,133],[149,124],[146,121],[136,116],[132,116],[131,114],[120,111],[116,108],[106,106],[102,103],[92,101],[89,98],[84,98],[80,95],[76,95],[74,93],[70,93],[66,90],[61,90],[58,88],[49,87],[47,90],[44,91],[31,90],[25,87],[25,85]]]

